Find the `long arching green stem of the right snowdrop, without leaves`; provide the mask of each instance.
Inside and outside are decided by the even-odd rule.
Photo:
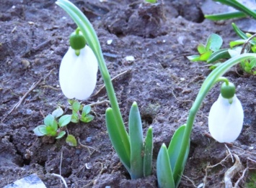
[[[175,164],[175,169],[173,171],[174,179],[177,179],[178,176],[182,175],[182,171],[180,171],[180,166],[182,166],[182,161],[185,156],[187,144],[189,144],[190,134],[193,128],[195,115],[198,112],[200,105],[203,103],[203,99],[206,97],[209,90],[211,90],[213,85],[216,83],[216,80],[218,80],[219,77],[224,75],[224,73],[227,70],[229,70],[232,66],[237,65],[239,62],[250,59],[250,58],[256,58],[256,54],[247,53],[247,54],[239,55],[237,57],[233,57],[227,60],[226,62],[222,63],[219,67],[216,67],[216,69],[213,70],[210,73],[210,75],[208,75],[208,77],[206,77],[206,80],[203,82],[203,85],[199,90],[198,96],[195,98],[195,102],[190,108],[190,113],[187,118],[187,124],[185,128],[184,136],[182,138],[180,154],[177,158],[177,163]]]

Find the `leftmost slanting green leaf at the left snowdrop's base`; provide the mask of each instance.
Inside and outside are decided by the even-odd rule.
[[[128,134],[119,131],[119,126],[115,122],[115,116],[112,108],[106,110],[106,125],[107,133],[110,136],[110,141],[118,154],[120,161],[123,163],[129,174],[131,172],[131,149]]]

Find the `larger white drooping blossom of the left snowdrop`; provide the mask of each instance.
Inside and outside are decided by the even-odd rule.
[[[92,95],[97,81],[97,58],[89,46],[80,55],[69,47],[61,61],[59,79],[61,90],[67,98],[85,100]]]

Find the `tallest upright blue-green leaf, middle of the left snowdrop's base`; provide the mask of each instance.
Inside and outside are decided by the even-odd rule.
[[[143,174],[143,133],[141,115],[136,102],[131,105],[129,114],[129,136],[131,143],[131,179],[144,177]]]

